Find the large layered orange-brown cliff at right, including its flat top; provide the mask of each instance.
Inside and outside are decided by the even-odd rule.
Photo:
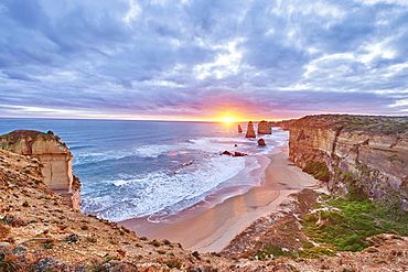
[[[290,127],[289,157],[300,167],[326,163],[333,193],[408,209],[407,117],[304,117]]]

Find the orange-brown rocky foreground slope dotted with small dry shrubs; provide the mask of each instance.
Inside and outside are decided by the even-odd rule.
[[[363,252],[319,259],[281,257],[258,261],[251,254],[245,258],[198,254],[167,240],[137,237],[124,227],[64,205],[58,195],[46,188],[37,159],[0,151],[0,271],[408,269],[408,239],[395,233],[378,236],[374,246]],[[284,226],[292,225],[281,227]]]

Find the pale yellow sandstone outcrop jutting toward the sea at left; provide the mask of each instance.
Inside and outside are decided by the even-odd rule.
[[[52,131],[15,130],[0,137],[0,148],[21,155],[40,159],[44,182],[60,194],[66,204],[80,208],[80,182],[74,176],[68,148]]]

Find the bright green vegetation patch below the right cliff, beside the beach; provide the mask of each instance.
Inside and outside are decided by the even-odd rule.
[[[362,251],[371,246],[366,238],[387,232],[391,229],[408,235],[408,217],[399,222],[389,218],[386,210],[378,209],[369,199],[351,200],[346,198],[329,199],[325,210],[305,215],[302,226],[307,236],[321,247],[307,248],[300,257],[318,257],[339,251]]]

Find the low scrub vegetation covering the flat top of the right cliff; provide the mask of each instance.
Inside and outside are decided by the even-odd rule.
[[[316,128],[408,138],[408,117],[320,115],[303,117],[292,126],[304,126],[304,122]]]

